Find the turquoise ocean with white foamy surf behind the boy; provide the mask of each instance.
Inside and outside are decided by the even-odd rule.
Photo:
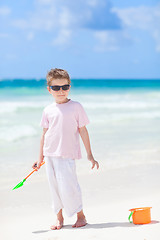
[[[88,114],[93,153],[103,169],[160,164],[160,80],[76,79],[70,98]],[[52,101],[45,80],[0,81],[3,178],[37,160],[41,114]],[[82,154],[85,159],[83,146]]]

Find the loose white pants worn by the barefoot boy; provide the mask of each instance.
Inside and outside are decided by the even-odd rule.
[[[45,163],[54,212],[57,214],[64,208],[69,217],[80,212],[82,196],[75,160],[45,157]]]

